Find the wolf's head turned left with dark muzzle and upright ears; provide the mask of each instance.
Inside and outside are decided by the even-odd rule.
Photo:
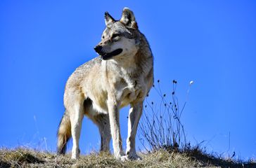
[[[132,10],[124,8],[118,21],[105,12],[105,26],[101,42],[94,47],[102,59],[122,59],[136,54],[140,33]]]

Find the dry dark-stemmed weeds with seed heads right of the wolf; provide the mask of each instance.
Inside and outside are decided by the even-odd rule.
[[[255,167],[255,162],[243,162],[231,158],[223,158],[217,154],[207,153],[200,144],[191,146],[186,141],[186,132],[181,117],[188,101],[189,90],[193,80],[188,85],[186,100],[181,103],[177,97],[177,80],[172,80],[171,92],[162,92],[160,80],[153,85],[153,91],[159,96],[156,102],[147,97],[143,108],[143,116],[139,123],[139,140],[144,150],[169,151],[169,155],[181,155],[193,160],[190,165],[175,165],[174,167]],[[151,91],[152,92],[152,91]],[[169,93],[169,94],[168,94]],[[202,141],[203,143],[203,141]],[[175,151],[175,152],[174,152]],[[157,152],[158,153],[158,152]]]

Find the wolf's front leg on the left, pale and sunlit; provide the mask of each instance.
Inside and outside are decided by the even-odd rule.
[[[120,134],[120,121],[119,121],[119,104],[112,99],[108,100],[108,113],[110,119],[110,130],[113,139],[113,149],[115,158],[121,160],[122,155],[122,137]]]

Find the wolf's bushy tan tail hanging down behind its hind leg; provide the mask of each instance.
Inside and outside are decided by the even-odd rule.
[[[68,116],[68,111],[65,111],[61,121],[60,125],[58,126],[58,144],[57,144],[57,153],[58,154],[65,154],[68,140],[71,137],[71,123],[70,123],[70,117]]]

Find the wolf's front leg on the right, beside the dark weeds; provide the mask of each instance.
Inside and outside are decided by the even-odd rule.
[[[134,103],[131,104],[131,108],[129,110],[127,150],[125,156],[127,160],[141,160],[136,153],[135,137],[139,119],[141,118],[142,114],[142,106],[143,102]]]

